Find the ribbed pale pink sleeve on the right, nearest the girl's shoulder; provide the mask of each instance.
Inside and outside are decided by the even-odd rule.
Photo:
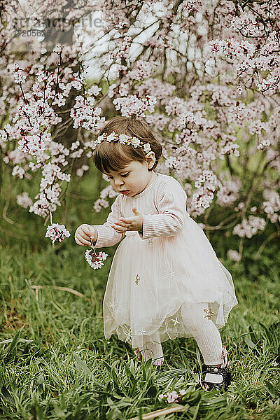
[[[139,232],[139,237],[150,239],[176,235],[183,228],[186,199],[187,195],[176,179],[172,183],[162,183],[155,203],[159,214],[143,215],[143,233]]]

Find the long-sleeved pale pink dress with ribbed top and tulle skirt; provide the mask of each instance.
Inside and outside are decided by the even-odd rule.
[[[238,303],[232,276],[186,211],[186,193],[172,176],[158,174],[135,197],[119,195],[106,223],[96,226],[96,247],[124,237],[111,224],[133,216],[132,207],[144,214],[143,234],[125,232],[113,256],[103,302],[105,338],[115,333],[134,348],[147,339],[192,337],[182,303],[205,302],[203,316],[223,327]]]

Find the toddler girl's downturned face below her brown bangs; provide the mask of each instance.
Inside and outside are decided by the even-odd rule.
[[[151,161],[154,162],[153,158],[151,158]],[[110,174],[106,175],[113,190],[134,197],[134,195],[140,194],[155,176],[155,172],[149,172],[148,167],[153,167],[153,163],[133,160],[122,171],[111,171]]]

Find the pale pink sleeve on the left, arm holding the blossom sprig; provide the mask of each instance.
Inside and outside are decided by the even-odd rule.
[[[97,228],[97,241],[94,245],[95,248],[102,248],[102,246],[113,246],[123,239],[125,234],[116,232],[112,225],[123,217],[120,209],[120,195],[116,198],[111,206],[111,213],[109,213],[106,222],[103,225],[94,225]]]

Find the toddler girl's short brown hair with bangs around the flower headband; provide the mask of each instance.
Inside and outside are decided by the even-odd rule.
[[[137,137],[144,143],[149,143],[155,153],[155,165],[148,171],[157,167],[158,160],[162,155],[162,146],[144,120],[135,117],[113,117],[104,125],[97,137],[104,133],[109,135],[111,132]],[[120,172],[133,160],[146,162],[143,149],[140,147],[134,148],[131,144],[120,144],[118,141],[102,141],[102,143],[97,144],[94,150],[94,165],[103,173],[109,173],[110,170]]]

